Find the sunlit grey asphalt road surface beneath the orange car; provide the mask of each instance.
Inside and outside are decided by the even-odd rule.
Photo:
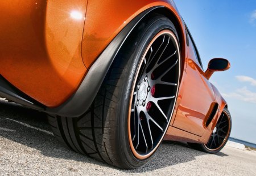
[[[147,165],[120,170],[59,144],[38,111],[0,101],[0,175],[256,175],[256,152],[206,154],[164,142]]]

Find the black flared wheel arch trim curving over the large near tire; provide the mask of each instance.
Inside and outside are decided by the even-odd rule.
[[[110,42],[107,48],[102,51],[100,56],[96,59],[90,67],[80,87],[64,104],[57,108],[47,108],[46,112],[49,114],[61,115],[64,117],[79,117],[89,109],[98,90],[112,65],[115,56],[122,48],[124,42],[129,37],[130,33],[137,27],[137,25],[145,20],[148,15],[154,13],[162,14],[169,18],[175,25],[180,40],[181,58],[185,55],[185,25],[179,17],[175,15],[170,8],[164,6],[154,6],[143,11],[137,15],[130,23],[122,29],[121,32]],[[181,63],[181,70],[184,68],[184,61]]]

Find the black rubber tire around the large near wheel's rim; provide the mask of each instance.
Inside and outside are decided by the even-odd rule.
[[[126,117],[134,74],[150,41],[163,29],[177,36],[174,24],[159,14],[139,24],[115,58],[93,104],[84,115],[79,118],[49,116],[49,124],[61,143],[73,151],[122,169],[135,169],[146,164],[152,154],[140,160],[131,152]]]

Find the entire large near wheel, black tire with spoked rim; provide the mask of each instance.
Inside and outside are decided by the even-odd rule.
[[[131,33],[90,109],[78,118],[49,116],[49,123],[74,151],[135,169],[147,163],[166,134],[179,80],[176,29],[154,14]]]

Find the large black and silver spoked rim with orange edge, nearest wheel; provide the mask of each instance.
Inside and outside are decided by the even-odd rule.
[[[159,32],[139,64],[130,97],[129,143],[134,156],[145,159],[166,134],[177,98],[180,51],[174,33]]]

